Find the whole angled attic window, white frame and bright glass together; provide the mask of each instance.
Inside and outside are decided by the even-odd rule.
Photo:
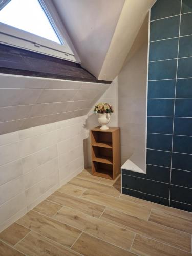
[[[0,0],[0,44],[80,63],[52,1]]]

